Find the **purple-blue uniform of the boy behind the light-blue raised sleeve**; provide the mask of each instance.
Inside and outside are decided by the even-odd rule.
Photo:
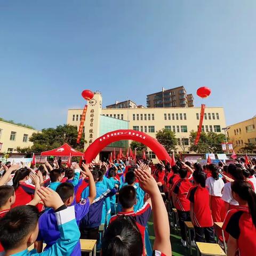
[[[79,227],[80,221],[89,212],[90,201],[88,198],[83,199],[79,204],[75,204],[74,207],[76,223]],[[44,241],[44,243],[46,243],[46,247],[44,250],[48,250],[53,244],[57,242],[61,235],[57,226],[57,220],[53,209],[46,211],[41,215],[41,217],[38,220],[38,226],[39,233],[37,241]],[[79,241],[70,255],[81,255],[81,245]]]

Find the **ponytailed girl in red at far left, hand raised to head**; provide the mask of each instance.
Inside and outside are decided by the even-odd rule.
[[[28,185],[26,181],[29,179],[30,170],[21,168],[15,172],[13,177],[13,187],[15,190],[16,201],[12,207],[28,204],[35,194],[35,186]]]

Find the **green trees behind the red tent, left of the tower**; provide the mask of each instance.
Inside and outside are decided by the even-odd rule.
[[[56,128],[43,129],[41,133],[33,133],[29,141],[34,145],[31,147],[33,152],[42,152],[58,148],[64,143],[68,143],[71,147],[83,151],[84,134],[82,134],[81,142],[76,144],[77,127],[73,125],[58,125]]]

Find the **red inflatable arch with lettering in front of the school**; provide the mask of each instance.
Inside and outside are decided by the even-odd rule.
[[[103,148],[108,146],[110,143],[119,140],[135,140],[141,142],[154,151],[158,159],[162,161],[167,160],[171,163],[171,157],[167,153],[166,149],[156,139],[146,133],[134,130],[116,130],[108,132],[96,139],[84,153],[86,163],[91,163]]]

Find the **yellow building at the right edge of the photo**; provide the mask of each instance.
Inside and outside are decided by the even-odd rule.
[[[228,126],[229,142],[233,143],[236,153],[244,153],[243,147],[256,145],[256,116],[251,119]],[[256,152],[256,150],[254,150]]]

